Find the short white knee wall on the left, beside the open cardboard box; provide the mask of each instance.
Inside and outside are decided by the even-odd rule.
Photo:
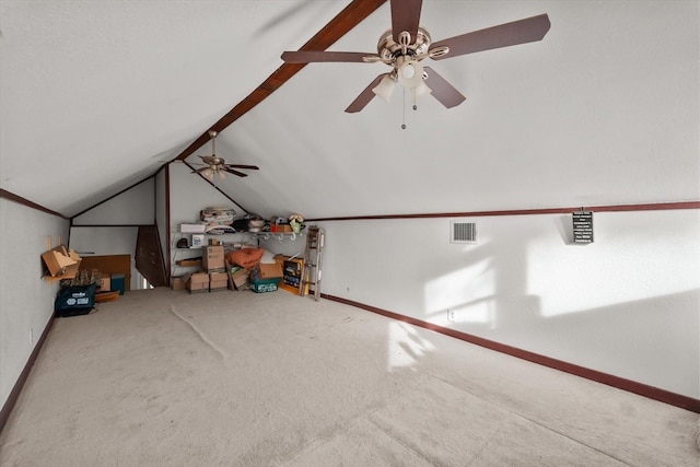
[[[0,407],[54,314],[58,282],[42,280],[47,238],[68,238],[69,222],[0,198]]]

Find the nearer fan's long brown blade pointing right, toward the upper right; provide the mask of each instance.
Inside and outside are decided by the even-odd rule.
[[[450,47],[447,54],[433,57],[434,60],[442,60],[459,55],[541,40],[549,27],[549,16],[540,14],[440,40],[433,43],[430,49]]]

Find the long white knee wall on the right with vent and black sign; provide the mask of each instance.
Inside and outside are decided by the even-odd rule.
[[[595,213],[588,245],[571,215],[468,220],[477,245],[451,219],[322,222],[322,291],[700,397],[700,211]]]

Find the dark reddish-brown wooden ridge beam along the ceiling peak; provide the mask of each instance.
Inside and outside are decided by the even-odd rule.
[[[316,33],[314,37],[304,44],[300,50],[326,50],[385,2],[386,0],[353,0],[348,7],[338,13],[336,17],[330,20],[328,24]],[[307,63],[283,63],[226,115],[212,125],[209,130],[205,131],[199,138],[192,141],[192,143],[174,160],[184,161],[194,154],[195,151],[210,140],[210,130],[221,132],[229,125],[243,117],[253,107],[280,89],[282,84],[284,84],[306,65]]]

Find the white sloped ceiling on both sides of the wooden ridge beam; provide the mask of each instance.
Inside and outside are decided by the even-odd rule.
[[[346,5],[0,1],[0,187],[68,217],[120,191]],[[218,155],[260,171],[217,185],[265,217],[699,199],[699,2],[424,0],[421,25],[439,40],[540,13],[541,42],[429,63],[467,97],[452,109],[397,90],[346,114],[386,66],[304,67],[220,132]],[[387,2],[329,49],[374,52],[389,25]]]

